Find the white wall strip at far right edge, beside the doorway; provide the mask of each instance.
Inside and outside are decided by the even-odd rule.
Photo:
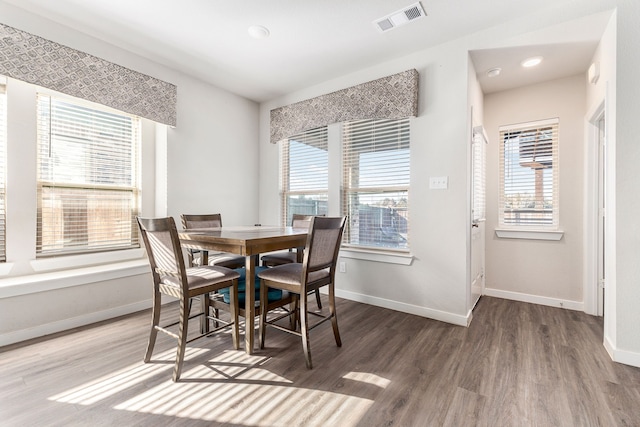
[[[615,122],[615,313],[606,338],[614,360],[640,366],[640,2],[618,1]],[[609,277],[607,277],[609,280]],[[608,298],[608,296],[607,296]],[[608,304],[607,304],[608,306]],[[606,307],[605,307],[606,310]],[[605,317],[609,314],[605,312]]]

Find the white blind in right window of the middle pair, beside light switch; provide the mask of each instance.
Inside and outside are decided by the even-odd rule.
[[[410,184],[409,119],[343,125],[343,244],[406,250]]]

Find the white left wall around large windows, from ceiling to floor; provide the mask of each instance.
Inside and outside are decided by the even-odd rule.
[[[143,127],[142,215],[168,212],[178,219],[182,212],[216,211],[226,224],[257,219],[257,104],[6,4],[0,4],[0,21],[177,85],[177,127],[166,136],[155,134],[165,133],[164,126]],[[12,252],[7,248],[15,261],[11,271],[0,265],[0,346],[150,307],[151,275],[142,251],[137,259],[82,268],[60,258],[55,262],[62,270],[34,274],[35,240],[23,230],[35,227],[35,165],[11,158],[35,156],[35,115],[19,112],[28,105],[9,108],[9,132],[27,138],[9,141],[8,191],[14,194],[13,203],[8,200],[7,239],[20,243]],[[17,183],[26,191],[14,189]]]

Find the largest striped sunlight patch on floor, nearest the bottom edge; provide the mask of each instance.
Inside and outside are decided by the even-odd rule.
[[[199,366],[185,377],[206,378]],[[114,409],[248,426],[355,425],[372,400],[293,386],[267,370],[254,368],[234,380],[167,381]],[[332,416],[340,415],[340,419]],[[349,419],[344,418],[349,414]],[[317,424],[318,422],[316,422]]]

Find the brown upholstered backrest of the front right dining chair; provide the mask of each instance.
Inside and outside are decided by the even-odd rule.
[[[304,249],[303,275],[331,269],[331,277],[335,274],[336,260],[342,242],[345,217],[316,216],[311,219],[307,244]]]

